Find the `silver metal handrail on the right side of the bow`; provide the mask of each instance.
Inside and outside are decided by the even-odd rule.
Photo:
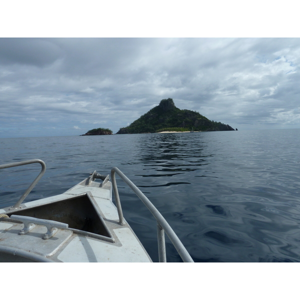
[[[183,246],[182,242],[176,235],[176,233],[173,231],[171,226],[168,224],[168,222],[164,219],[164,217],[160,214],[160,212],[157,210],[157,208],[151,203],[151,201],[137,188],[137,186],[130,181],[117,167],[113,167],[111,169],[111,182],[112,182],[112,188],[114,192],[115,197],[115,203],[117,207],[117,212],[119,216],[119,223],[124,224],[124,218],[120,203],[120,198],[116,186],[115,181],[115,173],[117,173],[121,179],[135,192],[135,194],[140,198],[140,200],[146,205],[146,207],[150,210],[150,212],[153,214],[153,216],[156,219],[157,222],[157,241],[158,241],[158,257],[159,262],[166,262],[166,253],[165,253],[165,241],[164,241],[164,231],[169,237],[170,241],[174,245],[175,249],[177,250],[178,254],[182,258],[184,262],[194,262]]]

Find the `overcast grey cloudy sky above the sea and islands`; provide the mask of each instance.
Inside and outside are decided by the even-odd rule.
[[[300,128],[299,38],[0,38],[0,137],[115,133],[163,98]]]

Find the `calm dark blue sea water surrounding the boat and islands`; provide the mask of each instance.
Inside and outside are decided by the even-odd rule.
[[[300,261],[300,129],[0,138],[0,163],[47,170],[25,201],[117,166],[152,201],[194,261]],[[0,207],[38,164],[0,170]],[[156,223],[117,178],[126,220],[154,261]],[[181,261],[166,238],[167,260]]]

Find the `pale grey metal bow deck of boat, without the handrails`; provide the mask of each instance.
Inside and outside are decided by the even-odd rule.
[[[1,219],[0,247],[11,249],[2,261],[32,261],[40,256],[43,261],[56,262],[151,262],[128,223],[119,224],[111,183],[102,187],[96,181],[86,183],[83,180],[60,195],[23,203],[13,212],[0,209],[11,217],[23,215],[68,224],[67,229],[57,228],[52,238],[43,239],[45,226],[36,224],[20,235],[23,223]]]

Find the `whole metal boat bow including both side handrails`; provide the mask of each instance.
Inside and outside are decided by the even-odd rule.
[[[193,262],[164,217],[117,167],[111,169],[111,181],[94,171],[62,194],[23,203],[45,172],[45,163],[30,159],[0,164],[3,169],[32,163],[41,165],[40,173],[13,206],[0,209],[0,262],[151,262],[123,217],[115,174],[156,219],[159,262],[166,262],[164,232],[182,260]]]

